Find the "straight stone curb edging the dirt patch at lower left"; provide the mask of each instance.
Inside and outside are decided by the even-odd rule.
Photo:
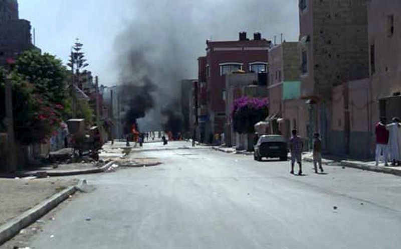
[[[49,199],[42,201],[35,207],[25,211],[21,215],[0,226],[0,245],[13,238],[20,232],[20,230],[34,223],[37,219],[55,208],[70,195],[73,195],[78,189],[77,186],[78,185],[69,187],[57,194],[54,194]]]

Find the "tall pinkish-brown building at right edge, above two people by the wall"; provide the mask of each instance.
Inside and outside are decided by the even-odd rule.
[[[368,20],[373,119],[401,117],[401,1],[369,1]]]

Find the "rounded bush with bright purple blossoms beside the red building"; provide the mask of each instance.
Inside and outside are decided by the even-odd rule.
[[[269,114],[268,98],[241,97],[234,101],[231,117],[234,131],[240,134],[254,133],[254,126]]]

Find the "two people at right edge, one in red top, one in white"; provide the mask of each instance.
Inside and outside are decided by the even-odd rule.
[[[388,166],[388,161],[393,166],[400,165],[401,162],[401,123],[398,117],[392,118],[392,122],[387,125],[386,118],[381,117],[375,127],[376,135],[376,166],[382,156],[384,166]]]

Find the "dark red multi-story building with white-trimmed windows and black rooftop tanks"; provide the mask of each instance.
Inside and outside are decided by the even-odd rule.
[[[200,107],[205,124],[200,129],[203,129],[201,136],[211,141],[213,134],[224,131],[228,114],[224,101],[225,75],[239,70],[267,72],[271,42],[262,39],[260,33],[255,33],[250,40],[242,32],[238,41],[207,41],[206,44],[207,56],[198,59],[200,88],[207,90],[207,104]]]

